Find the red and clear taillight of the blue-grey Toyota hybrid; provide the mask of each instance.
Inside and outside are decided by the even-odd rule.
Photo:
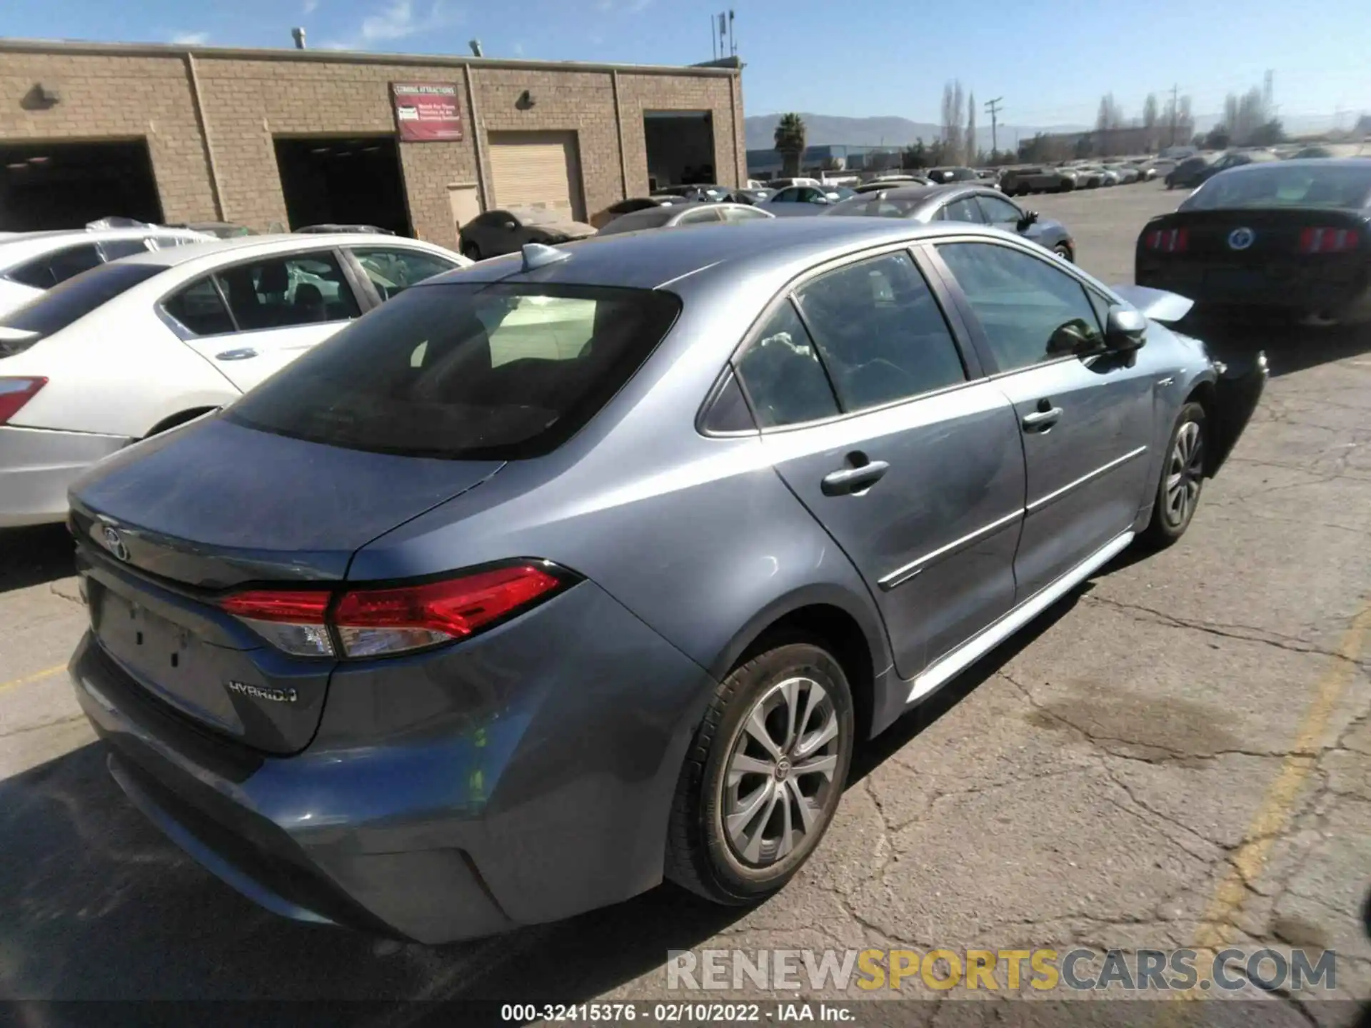
[[[219,607],[288,654],[389,657],[466,639],[574,581],[543,562],[514,563],[414,585],[252,589]]]

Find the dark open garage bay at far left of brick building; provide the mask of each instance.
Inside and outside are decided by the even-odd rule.
[[[0,143],[0,230],[80,229],[110,217],[162,221],[147,140]]]

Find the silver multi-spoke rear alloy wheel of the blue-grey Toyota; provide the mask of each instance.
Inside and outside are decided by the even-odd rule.
[[[764,692],[747,711],[728,757],[724,835],[733,855],[766,866],[791,854],[836,800],[838,710],[813,678]]]

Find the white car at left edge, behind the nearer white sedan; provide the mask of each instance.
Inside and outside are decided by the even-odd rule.
[[[214,236],[189,229],[138,225],[123,229],[0,232],[0,314],[8,314],[44,291],[107,260],[149,249],[208,243]]]

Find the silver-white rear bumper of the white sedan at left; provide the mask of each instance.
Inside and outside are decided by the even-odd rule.
[[[63,521],[71,482],[130,441],[123,436],[0,426],[0,528]]]

